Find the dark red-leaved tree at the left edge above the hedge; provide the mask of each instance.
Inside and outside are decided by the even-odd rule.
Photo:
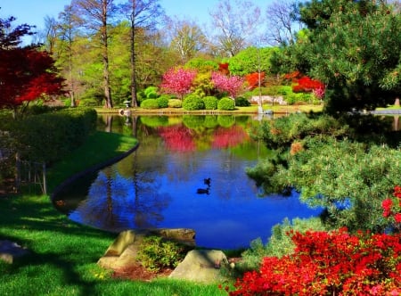
[[[13,20],[0,19],[0,108],[15,112],[20,105],[44,95],[61,95],[63,79],[57,76],[49,54],[33,47],[16,47],[20,37],[29,34],[28,25],[4,33]]]

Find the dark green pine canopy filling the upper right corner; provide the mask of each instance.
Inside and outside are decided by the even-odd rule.
[[[323,81],[327,111],[394,103],[401,89],[401,15],[394,5],[314,0],[301,5],[300,18],[307,34],[274,56],[275,70]]]

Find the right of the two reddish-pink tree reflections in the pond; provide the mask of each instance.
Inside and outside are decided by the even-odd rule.
[[[218,127],[214,140],[212,143],[213,148],[228,148],[235,147],[238,144],[244,142],[248,139],[249,135],[243,130],[242,127]]]

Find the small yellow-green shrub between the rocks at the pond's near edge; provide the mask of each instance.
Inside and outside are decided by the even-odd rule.
[[[184,247],[163,241],[160,236],[147,236],[139,245],[138,260],[143,267],[153,272],[164,267],[176,267],[184,259]]]

